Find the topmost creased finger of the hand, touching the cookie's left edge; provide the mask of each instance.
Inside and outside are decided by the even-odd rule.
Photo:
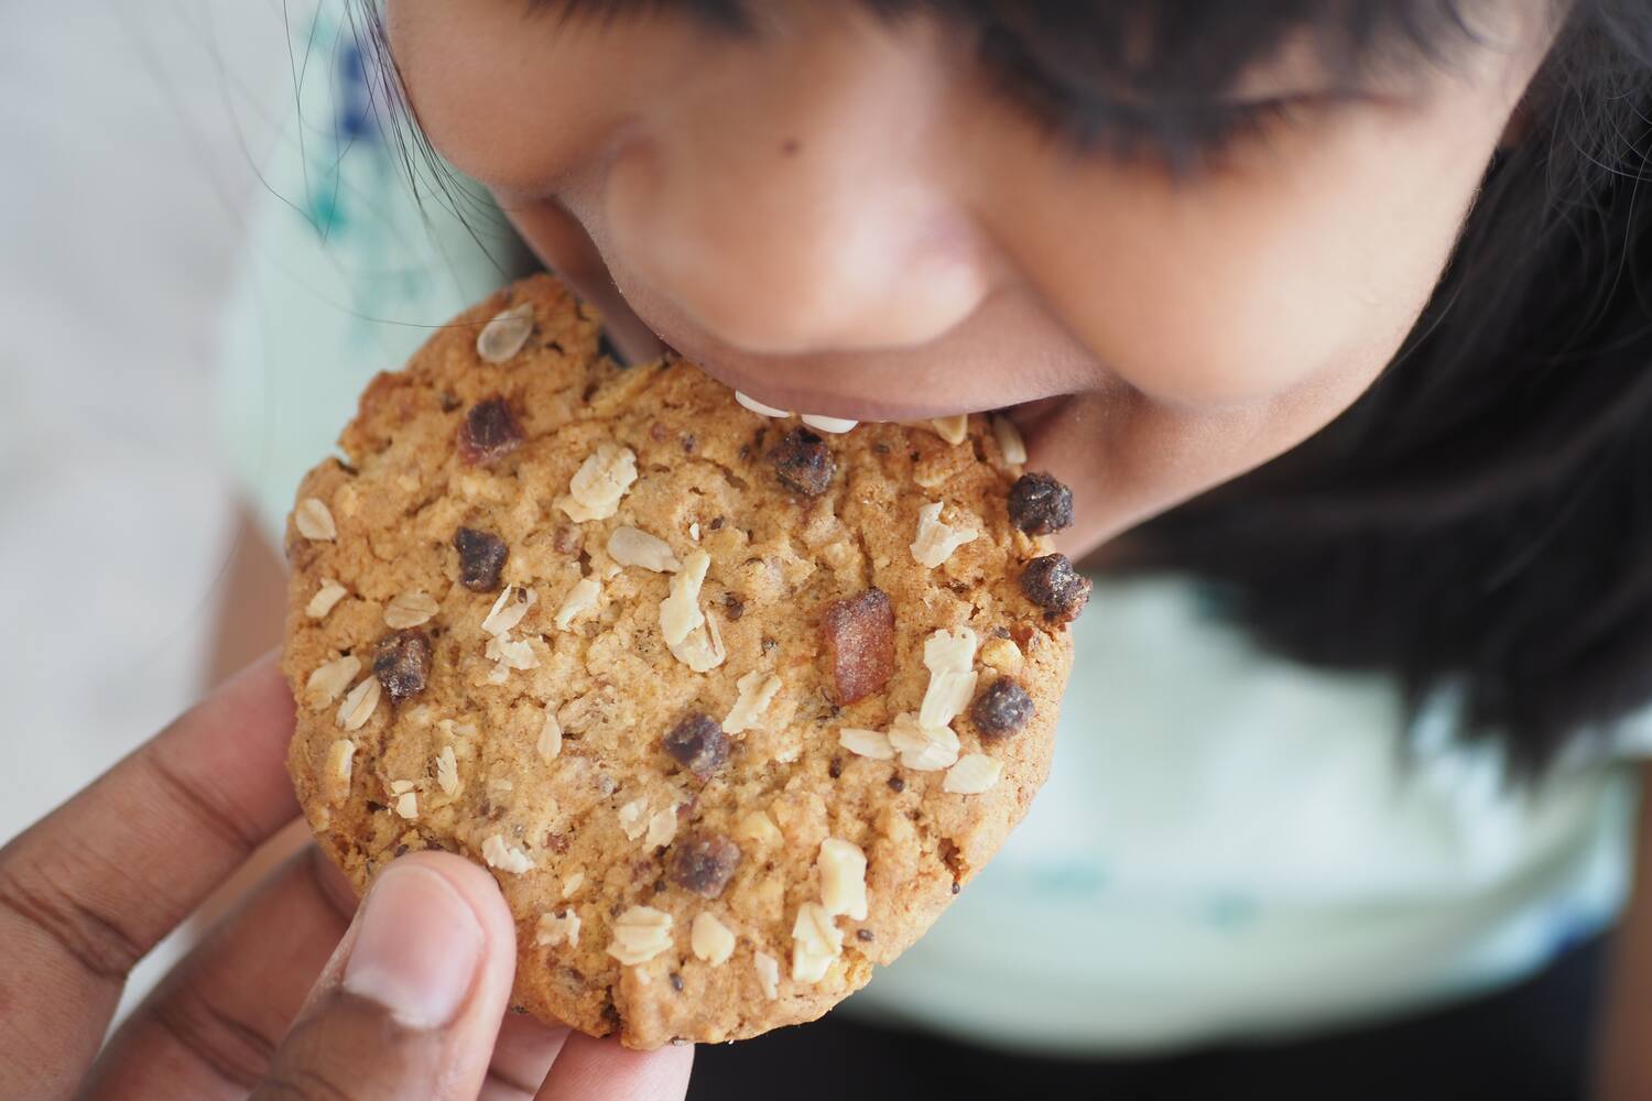
[[[297,814],[292,700],[264,659],[0,848],[0,1096],[58,1096],[126,974]]]

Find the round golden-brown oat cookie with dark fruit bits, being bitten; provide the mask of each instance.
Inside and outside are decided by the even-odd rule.
[[[986,418],[814,434],[596,345],[517,284],[306,477],[299,801],[357,888],[413,848],[487,863],[539,1017],[644,1048],[813,1020],[1026,812],[1084,583],[1029,565]],[[1019,523],[1052,494],[1023,482]]]

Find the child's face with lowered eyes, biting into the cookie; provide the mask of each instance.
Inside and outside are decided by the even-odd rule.
[[[803,413],[1021,406],[1080,553],[1388,363],[1550,41],[1546,5],[1482,8],[1482,41],[1355,102],[1287,50],[1236,96],[1298,109],[1183,180],[1057,147],[957,33],[844,3],[765,2],[730,38],[392,0],[388,30],[431,142],[623,343]]]

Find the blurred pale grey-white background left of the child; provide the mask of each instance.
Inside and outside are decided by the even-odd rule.
[[[0,5],[0,839],[203,685],[216,319],[302,64],[284,8]]]

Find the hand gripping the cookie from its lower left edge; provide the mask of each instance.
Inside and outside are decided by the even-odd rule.
[[[0,850],[0,1096],[682,1098],[692,1048],[501,1030],[515,928],[449,853],[382,872],[354,919],[301,855],[99,1055],[132,964],[294,817],[291,730],[259,662]]]

